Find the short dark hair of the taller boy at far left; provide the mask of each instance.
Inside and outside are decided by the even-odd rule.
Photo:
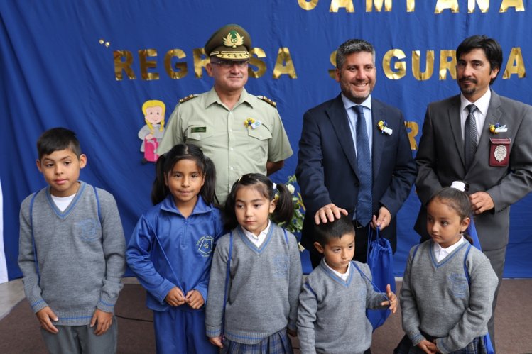
[[[67,128],[51,128],[40,135],[37,140],[37,153],[39,160],[44,155],[50,155],[59,150],[72,150],[77,158],[81,156],[80,141],[76,138],[76,133]]]

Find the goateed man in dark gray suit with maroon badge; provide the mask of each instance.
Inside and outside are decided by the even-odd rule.
[[[510,206],[532,188],[532,107],[489,89],[502,64],[501,46],[496,40],[484,35],[466,38],[456,57],[462,93],[429,104],[425,114],[416,155],[416,190],[422,206],[415,229],[422,240],[430,238],[425,209],[428,200],[455,180],[467,182],[480,244],[500,287]],[[493,343],[499,287],[488,323]]]

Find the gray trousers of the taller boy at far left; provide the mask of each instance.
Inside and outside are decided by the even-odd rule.
[[[40,328],[46,348],[52,354],[113,354],[116,353],[116,340],[118,338],[118,323],[113,316],[111,327],[96,336],[96,326],[55,326],[59,333],[52,334]]]

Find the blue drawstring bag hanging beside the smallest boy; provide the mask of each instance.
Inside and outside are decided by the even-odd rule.
[[[368,231],[368,251],[367,264],[371,270],[371,277],[373,278],[373,288],[376,292],[386,291],[386,285],[390,284],[391,291],[396,292],[396,281],[393,277],[393,253],[391,250],[390,241],[381,237],[379,228],[372,232],[372,228]],[[375,234],[375,238],[373,237]],[[367,309],[366,316],[373,326],[373,330],[382,326],[391,311],[389,309]]]

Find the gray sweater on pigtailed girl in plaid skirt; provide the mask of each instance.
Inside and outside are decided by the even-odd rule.
[[[212,260],[205,317],[209,337],[222,334],[229,240],[229,234],[219,239]],[[295,236],[271,223],[266,240],[257,248],[240,226],[235,228],[224,336],[237,343],[256,344],[287,326],[295,330],[301,279]]]

